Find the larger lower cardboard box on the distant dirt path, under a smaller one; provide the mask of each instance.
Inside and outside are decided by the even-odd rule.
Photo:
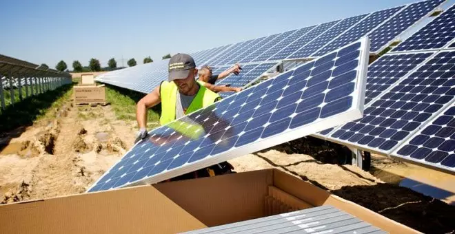
[[[74,104],[105,103],[105,86],[74,86]]]

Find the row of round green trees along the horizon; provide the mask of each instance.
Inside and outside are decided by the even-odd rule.
[[[170,58],[170,54],[166,54],[163,56],[163,59]],[[147,56],[143,59],[143,63],[153,63],[153,59],[150,58],[150,56]],[[136,59],[131,58],[127,62],[129,67],[134,67],[137,65]],[[48,65],[45,63],[41,64],[41,67],[46,67],[49,68]],[[99,60],[97,58],[91,58],[90,61],[88,62],[88,66],[84,67],[79,61],[73,61],[72,62],[72,72],[101,72],[101,71],[112,71],[112,70],[117,70],[118,68],[123,68],[123,67],[117,67],[117,61],[115,61],[115,58],[110,58],[108,61],[108,67],[101,67],[101,64],[99,63]],[[55,69],[59,70],[60,72],[68,71],[68,65],[66,65],[65,61],[60,61],[55,65]]]

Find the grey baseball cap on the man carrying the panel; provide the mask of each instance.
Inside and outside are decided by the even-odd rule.
[[[169,81],[187,78],[190,70],[196,67],[194,59],[188,54],[175,54],[169,60]]]

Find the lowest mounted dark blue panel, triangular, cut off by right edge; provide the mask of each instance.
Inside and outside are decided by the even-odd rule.
[[[392,156],[455,173],[455,105],[442,111]]]

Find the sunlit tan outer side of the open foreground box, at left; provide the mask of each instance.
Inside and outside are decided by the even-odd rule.
[[[0,233],[178,233],[205,225],[151,186],[0,206]]]

